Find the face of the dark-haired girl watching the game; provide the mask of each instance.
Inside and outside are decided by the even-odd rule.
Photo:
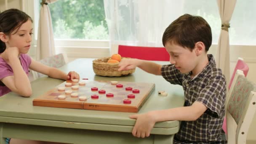
[[[30,20],[26,21],[19,29],[15,29],[9,35],[8,41],[5,43],[6,48],[17,47],[19,48],[19,53],[27,53],[32,41],[32,30],[32,22]]]

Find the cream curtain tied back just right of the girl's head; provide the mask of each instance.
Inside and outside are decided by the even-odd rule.
[[[48,7],[49,3],[53,3],[57,0],[42,0],[38,35],[37,35],[37,48],[36,59],[44,59],[49,56],[55,55],[53,26],[51,21],[51,13]]]

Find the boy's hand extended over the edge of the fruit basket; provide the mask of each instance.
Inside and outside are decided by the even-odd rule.
[[[139,65],[139,59],[122,59],[118,65],[118,71],[135,69]]]

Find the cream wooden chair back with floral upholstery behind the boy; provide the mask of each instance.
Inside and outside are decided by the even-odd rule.
[[[256,112],[256,85],[237,70],[227,101],[227,141],[245,144],[253,115]]]

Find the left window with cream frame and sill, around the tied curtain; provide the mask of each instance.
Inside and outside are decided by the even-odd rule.
[[[34,48],[29,51],[30,56],[35,56],[36,53],[41,1],[23,0],[24,11],[34,20]],[[67,53],[69,60],[77,57],[109,56],[103,0],[58,0],[48,6],[51,11],[56,53]]]

